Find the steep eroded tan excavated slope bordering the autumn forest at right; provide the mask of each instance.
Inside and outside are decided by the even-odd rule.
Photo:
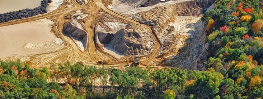
[[[133,19],[153,26],[153,31],[161,41],[160,66],[199,69],[204,67],[208,43],[204,24],[200,22],[202,13],[214,0],[192,0],[157,6],[135,14]],[[188,17],[192,16],[192,17]],[[191,67],[189,67],[191,66]]]

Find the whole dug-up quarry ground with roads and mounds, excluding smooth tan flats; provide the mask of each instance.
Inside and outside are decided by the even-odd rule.
[[[67,60],[106,67],[128,65],[123,56],[140,58],[140,66],[202,70],[209,44],[200,21],[214,0],[64,0],[50,13],[0,23],[1,26],[49,19],[63,40],[53,52],[22,57],[34,66]],[[111,8],[117,9],[111,9]],[[124,9],[124,10],[122,10]],[[120,11],[122,10],[122,11]],[[130,65],[130,64],[129,64]]]

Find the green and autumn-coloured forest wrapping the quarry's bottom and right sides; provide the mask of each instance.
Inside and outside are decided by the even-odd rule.
[[[263,5],[218,0],[201,18],[206,71],[0,60],[2,99],[263,99]]]

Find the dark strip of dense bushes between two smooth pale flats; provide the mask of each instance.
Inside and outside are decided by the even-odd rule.
[[[35,16],[37,14],[45,14],[48,12],[46,7],[48,6],[48,3],[51,2],[52,2],[51,0],[43,0],[41,1],[41,6],[36,7],[34,9],[24,9],[24,10],[18,10],[18,11],[0,14],[0,23],[8,22],[10,20],[15,20],[15,19],[24,19],[31,16]]]

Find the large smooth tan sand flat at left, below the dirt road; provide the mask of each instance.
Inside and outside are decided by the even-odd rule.
[[[0,58],[26,56],[59,49],[59,45],[55,42],[59,44],[62,40],[50,32],[52,23],[48,19],[42,19],[0,27]],[[49,45],[50,42],[54,42],[52,47]],[[27,47],[24,48],[25,44]],[[30,48],[29,45],[40,48]]]

